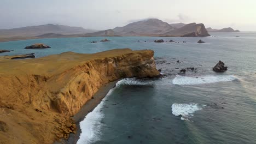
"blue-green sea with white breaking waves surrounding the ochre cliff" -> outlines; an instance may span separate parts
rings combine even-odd
[[[166,77],[119,81],[81,123],[78,143],[256,143],[256,33],[211,35],[216,37],[109,37],[110,42],[95,44],[90,41],[104,38],[20,40],[0,43],[0,49],[14,50],[1,55],[34,52],[36,57],[125,47],[155,51],[156,66]],[[197,44],[199,39],[206,44]],[[33,43],[52,48],[24,49]],[[219,60],[228,66],[225,73],[211,70]],[[177,76],[187,67],[196,70]]]

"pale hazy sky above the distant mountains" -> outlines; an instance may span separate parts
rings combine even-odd
[[[53,23],[103,30],[149,18],[256,31],[256,1],[0,0],[0,29]]]

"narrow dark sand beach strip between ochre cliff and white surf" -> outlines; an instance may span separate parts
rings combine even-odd
[[[77,143],[79,140],[80,134],[82,133],[82,130],[80,129],[80,122],[84,120],[86,115],[93,111],[95,107],[98,106],[98,104],[101,103],[102,99],[106,97],[110,89],[114,88],[116,86],[116,83],[119,80],[109,82],[106,85],[102,86],[98,91],[94,94],[93,98],[89,100],[86,104],[83,105],[83,107],[76,113],[72,118],[74,119],[75,124],[77,125],[77,134],[71,133],[68,137],[68,140],[63,140],[60,142],[54,142],[54,144],[74,144]]]

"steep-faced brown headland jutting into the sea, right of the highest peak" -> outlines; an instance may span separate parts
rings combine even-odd
[[[174,29],[173,31],[161,34],[161,36],[167,37],[207,37],[208,34],[205,25],[203,23],[189,23],[181,28]]]

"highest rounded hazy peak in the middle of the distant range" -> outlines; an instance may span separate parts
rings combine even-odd
[[[116,27],[113,29],[115,33],[120,35],[158,35],[175,29],[167,22],[158,19],[148,19],[129,23],[124,27]]]

